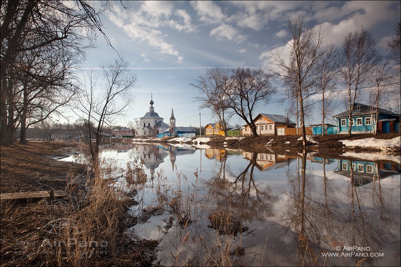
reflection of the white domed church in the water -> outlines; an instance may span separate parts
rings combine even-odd
[[[139,155],[141,163],[149,170],[151,178],[154,178],[154,171],[169,156],[171,168],[175,168],[177,155],[193,154],[196,148],[192,146],[171,146],[166,144],[134,144],[135,153]]]

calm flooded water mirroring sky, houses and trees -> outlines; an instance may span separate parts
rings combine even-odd
[[[127,233],[158,240],[162,265],[400,265],[399,156],[113,144],[102,158],[138,190]]]

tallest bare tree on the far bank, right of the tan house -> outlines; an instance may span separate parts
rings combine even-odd
[[[298,99],[302,143],[306,146],[304,100],[321,92],[316,88],[317,65],[327,52],[327,46],[323,45],[322,28],[313,24],[307,26],[301,16],[291,19],[288,29],[290,36],[286,37],[286,43],[291,56],[287,59],[278,51],[272,52],[270,56],[275,68],[271,71],[287,86],[288,95]]]

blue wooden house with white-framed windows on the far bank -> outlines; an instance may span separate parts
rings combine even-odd
[[[341,112],[333,116],[337,121],[337,133],[348,133],[351,125],[353,133],[371,133],[377,126],[378,133],[389,133],[399,131],[399,116],[397,113],[378,108],[376,119],[376,107],[373,107],[373,118],[370,114],[370,105],[355,103],[352,110],[351,123],[348,121],[349,111]]]

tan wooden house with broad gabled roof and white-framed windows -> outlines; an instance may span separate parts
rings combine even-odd
[[[284,115],[259,113],[255,118],[258,135],[285,135],[286,128],[295,128],[296,123]],[[250,125],[244,125],[241,135],[252,135]]]

